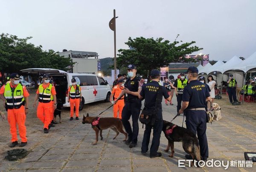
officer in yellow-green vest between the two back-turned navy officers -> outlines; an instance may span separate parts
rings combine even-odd
[[[174,83],[175,87],[175,94],[177,97],[177,114],[179,114],[179,110],[181,108],[181,101],[182,101],[182,95],[183,95],[183,89],[187,85],[188,80],[185,79],[185,73],[180,73],[180,79],[177,79]]]

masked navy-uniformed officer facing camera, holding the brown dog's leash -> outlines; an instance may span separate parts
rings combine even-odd
[[[125,82],[125,89],[120,93],[117,102],[123,95],[125,95],[125,106],[122,110],[122,124],[128,133],[128,139],[125,144],[130,148],[135,147],[138,141],[141,100],[139,94],[144,80],[136,76],[137,69],[134,65],[128,65],[128,79]],[[129,119],[132,118],[132,129]]]

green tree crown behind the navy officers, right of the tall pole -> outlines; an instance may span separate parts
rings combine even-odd
[[[177,35],[178,37],[179,35]],[[176,37],[176,39],[177,39]],[[194,59],[186,59],[186,54],[191,54],[203,48],[191,46],[195,43],[182,41],[171,42],[163,38],[128,38],[125,42],[130,49],[119,49],[118,58],[116,59],[118,68],[126,67],[128,64],[137,66],[137,73],[148,76],[154,68],[168,66],[171,62],[195,62]]]

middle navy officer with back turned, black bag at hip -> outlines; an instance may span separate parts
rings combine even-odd
[[[161,87],[159,90],[160,95],[163,95],[165,99],[168,101],[171,100],[171,97],[169,96],[167,90],[165,87],[159,85],[158,81],[160,81],[160,71],[159,70],[152,70],[150,73],[151,82],[143,85],[142,90],[140,92],[139,98],[143,99],[145,98],[144,103],[144,109],[147,111],[153,111],[155,110],[155,103],[157,99],[157,90]],[[159,144],[160,144],[160,136],[163,128],[163,115],[162,115],[162,99],[159,100],[157,104],[157,117],[156,122],[154,126],[151,126],[150,124],[146,124],[143,141],[141,145],[141,153],[145,154],[148,151],[148,144],[150,140],[151,135],[151,129],[153,127],[153,139],[152,144],[150,147],[150,158],[160,157],[162,154],[160,152],[157,152]]]

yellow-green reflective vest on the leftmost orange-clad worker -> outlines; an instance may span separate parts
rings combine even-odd
[[[18,84],[14,89],[11,88],[10,83],[6,84],[4,88],[4,97],[6,98],[7,109],[19,109],[21,105],[24,105],[23,86]]]

